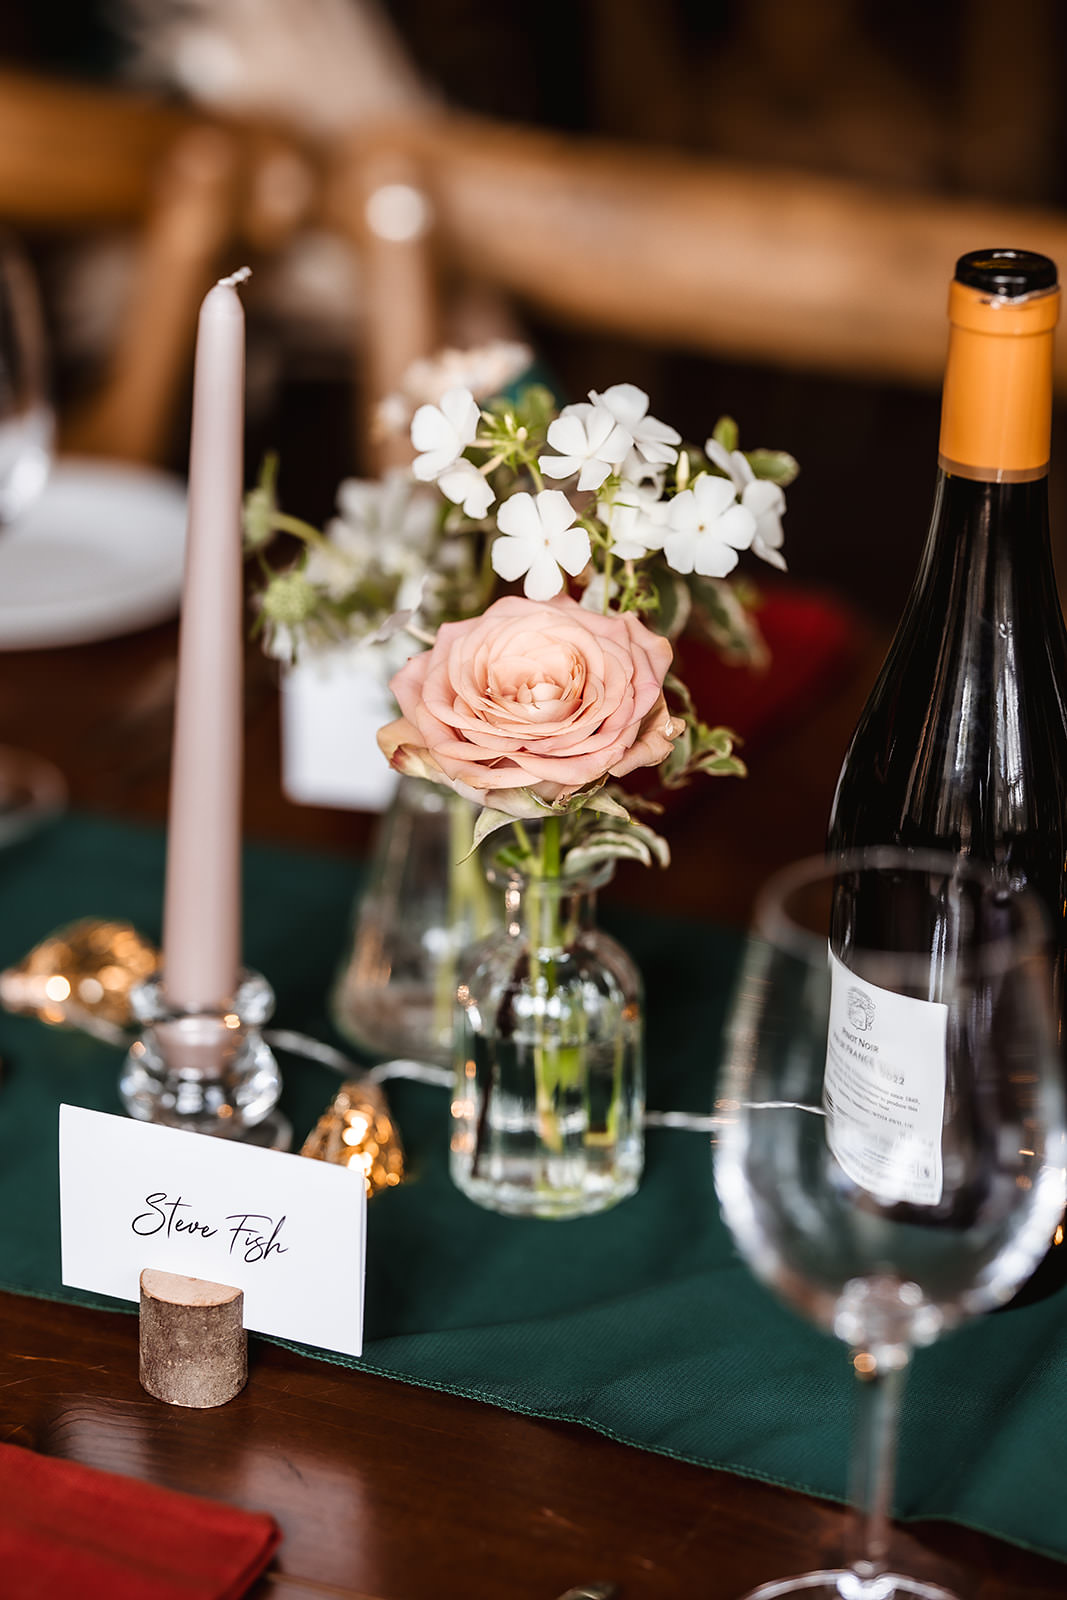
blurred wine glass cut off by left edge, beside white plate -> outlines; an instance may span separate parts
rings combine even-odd
[[[53,411],[45,330],[30,266],[0,229],[0,538],[48,482]],[[66,784],[51,762],[0,744],[0,846],[61,810]]]

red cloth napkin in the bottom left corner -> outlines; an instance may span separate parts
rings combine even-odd
[[[3,1600],[237,1600],[280,1538],[261,1512],[0,1445]]]

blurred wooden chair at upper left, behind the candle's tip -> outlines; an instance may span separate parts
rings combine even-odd
[[[133,286],[101,384],[61,446],[165,459],[200,301],[235,250],[277,248],[314,205],[290,138],[158,99],[0,72],[0,219],[14,229],[136,232]]]

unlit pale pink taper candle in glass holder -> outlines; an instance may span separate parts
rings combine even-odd
[[[240,968],[246,277],[210,290],[197,331],[163,910],[163,992],[182,1011],[232,1000]]]

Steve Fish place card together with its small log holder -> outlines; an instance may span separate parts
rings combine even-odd
[[[232,1400],[246,1331],[362,1352],[362,1170],[62,1106],[59,1218],[62,1282],[139,1304],[157,1400]]]

